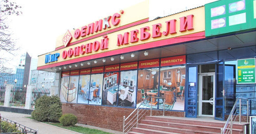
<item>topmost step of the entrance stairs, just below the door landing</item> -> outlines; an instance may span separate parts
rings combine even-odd
[[[193,120],[190,118],[166,118],[161,116],[147,116],[146,120],[153,120],[153,121],[162,121],[162,122],[173,122],[173,123],[185,123],[185,124],[197,124],[203,126],[214,126],[214,127],[224,127],[225,121],[203,121],[203,120]],[[243,129],[243,124],[233,124],[234,129]]]

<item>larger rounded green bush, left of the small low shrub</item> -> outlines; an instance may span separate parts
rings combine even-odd
[[[62,115],[61,105],[57,96],[41,96],[36,100],[31,116],[37,121],[57,122]]]

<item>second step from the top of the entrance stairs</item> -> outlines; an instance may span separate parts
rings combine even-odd
[[[196,131],[209,131],[219,133],[222,127],[215,126],[204,126],[195,124],[186,124],[186,123],[173,123],[173,122],[162,122],[162,121],[153,121],[153,120],[141,120],[141,124],[157,125],[163,127],[172,127],[179,129],[190,129]],[[233,129],[234,133],[240,133],[242,129]]]

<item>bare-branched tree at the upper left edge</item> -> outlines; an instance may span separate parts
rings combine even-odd
[[[10,15],[20,15],[20,6],[9,0],[0,0],[0,72],[9,73],[11,70],[5,66],[8,59],[3,56],[5,54],[14,55],[14,52],[19,48],[15,45],[15,40],[11,38],[11,32],[7,23],[7,18]]]

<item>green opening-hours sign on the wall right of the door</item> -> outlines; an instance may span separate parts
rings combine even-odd
[[[238,84],[255,83],[255,58],[238,60]]]

